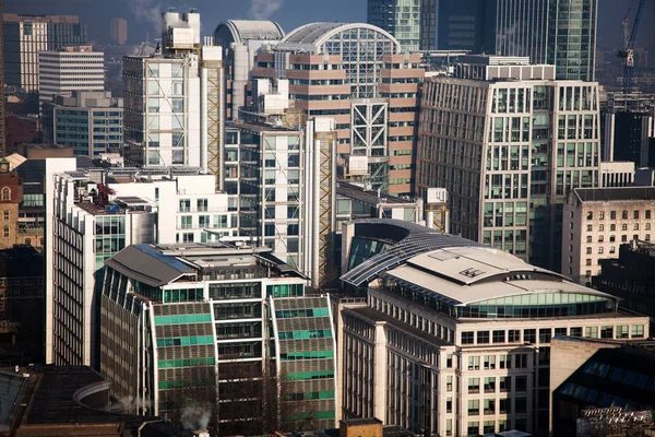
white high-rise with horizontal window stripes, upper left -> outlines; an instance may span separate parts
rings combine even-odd
[[[74,91],[105,90],[105,54],[92,46],[63,47],[38,54],[38,102],[52,102],[56,95]],[[41,113],[43,114],[43,113]]]

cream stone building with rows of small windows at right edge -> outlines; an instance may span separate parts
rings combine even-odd
[[[651,240],[654,213],[655,187],[574,189],[563,210],[562,273],[591,285],[621,244]]]

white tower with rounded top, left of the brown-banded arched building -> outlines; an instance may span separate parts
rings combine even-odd
[[[214,31],[214,44],[223,47],[225,70],[226,119],[237,120],[239,108],[252,105],[252,73],[267,63],[257,62],[255,55],[264,46],[275,46],[284,31],[273,21],[228,20]]]

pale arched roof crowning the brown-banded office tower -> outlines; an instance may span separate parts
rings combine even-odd
[[[303,48],[318,52],[320,46],[333,36],[350,29],[365,28],[377,32],[395,45],[395,52],[401,51],[401,44],[389,32],[367,23],[309,23],[289,32],[277,46],[281,50]]]

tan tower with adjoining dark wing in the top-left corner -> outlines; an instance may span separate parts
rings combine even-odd
[[[4,81],[38,92],[38,54],[86,44],[86,25],[76,15],[3,15]]]

